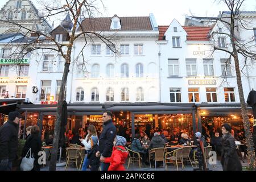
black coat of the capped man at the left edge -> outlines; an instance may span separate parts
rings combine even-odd
[[[0,160],[9,159],[13,161],[18,151],[19,125],[13,121],[6,122],[0,128]]]

